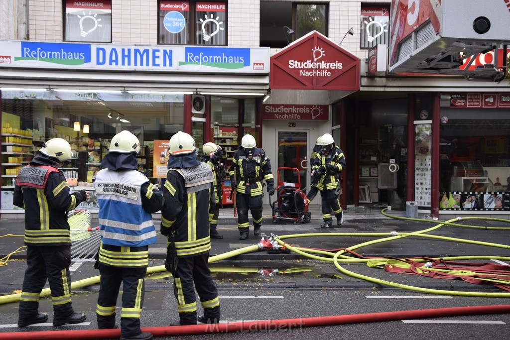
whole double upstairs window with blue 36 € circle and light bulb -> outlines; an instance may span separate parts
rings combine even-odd
[[[160,44],[225,46],[226,2],[160,1]]]

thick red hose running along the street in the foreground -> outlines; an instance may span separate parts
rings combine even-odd
[[[193,326],[143,327],[142,331],[154,336],[175,336],[227,332],[274,331],[301,327],[333,326],[354,323],[396,321],[424,318],[454,317],[464,315],[510,313],[510,305],[469,306],[436,309],[401,310],[380,313],[337,315],[330,317],[261,320]],[[59,330],[39,332],[0,333],[0,339],[106,339],[120,336],[120,329]]]

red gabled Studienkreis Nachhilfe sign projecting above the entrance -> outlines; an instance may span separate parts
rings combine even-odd
[[[270,59],[272,89],[360,89],[360,59],[313,31]]]

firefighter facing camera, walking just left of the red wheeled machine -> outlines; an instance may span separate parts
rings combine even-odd
[[[253,136],[243,136],[241,147],[234,153],[228,174],[232,190],[236,190],[239,240],[248,238],[248,209],[253,220],[253,234],[260,235],[262,198],[264,197],[262,180],[266,180],[267,192],[269,196],[272,196],[274,194],[274,178],[271,173],[271,163],[269,163],[264,150],[256,147]]]

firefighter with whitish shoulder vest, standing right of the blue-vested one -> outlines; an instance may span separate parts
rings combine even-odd
[[[195,325],[197,320],[219,323],[218,291],[207,266],[211,249],[209,221],[216,209],[213,171],[197,159],[190,135],[176,133],[168,147],[161,234],[168,238],[165,268],[173,275],[179,311],[179,321],[171,325]],[[203,307],[203,315],[198,318],[195,289]]]

